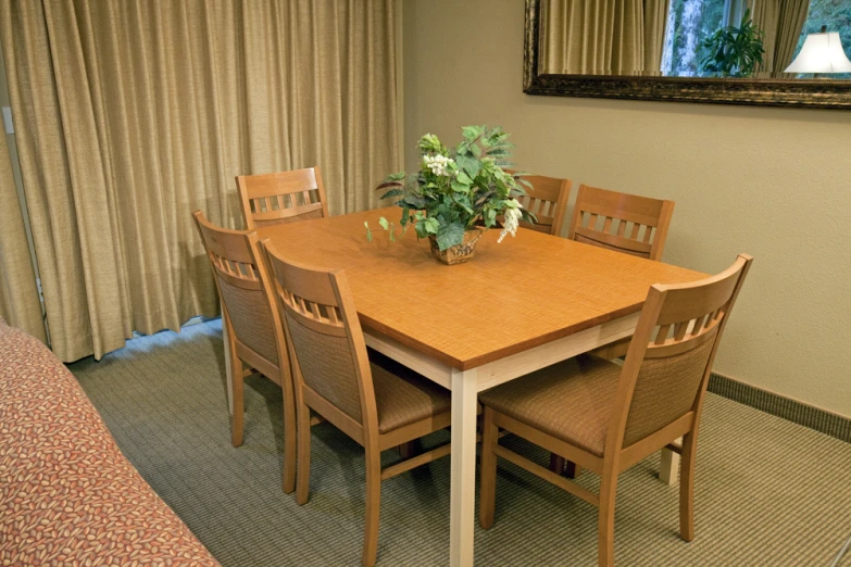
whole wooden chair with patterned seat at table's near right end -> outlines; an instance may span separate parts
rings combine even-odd
[[[668,448],[683,456],[679,533],[694,538],[694,455],[715,352],[752,259],[691,284],[652,286],[623,367],[580,356],[479,394],[484,405],[479,524],[493,525],[497,457],[599,507],[598,562],[614,564],[617,476]],[[499,444],[515,433],[600,475],[593,492]],[[681,445],[675,440],[683,438]]]

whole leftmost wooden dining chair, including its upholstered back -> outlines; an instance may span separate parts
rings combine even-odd
[[[296,490],[296,400],[284,328],[265,264],[260,262],[256,234],[217,227],[204,218],[201,211],[196,211],[192,216],[222,299],[234,402],[230,442],[234,446],[242,444],[243,380],[254,369],[280,386],[284,393],[283,488],[284,492],[290,493]]]

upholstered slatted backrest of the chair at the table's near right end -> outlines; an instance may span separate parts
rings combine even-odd
[[[650,288],[618,385],[613,420],[623,419],[621,446],[690,411],[699,415],[715,351],[752,261],[740,254],[716,276]]]

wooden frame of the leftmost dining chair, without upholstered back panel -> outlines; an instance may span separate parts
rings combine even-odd
[[[280,317],[273,301],[271,279],[266,265],[262,262],[256,234],[248,230],[221,228],[204,218],[201,211],[192,213],[196,227],[201,235],[208,259],[213,269],[213,279],[220,298],[224,298],[218,278],[238,288],[262,290],[272,315],[272,331],[275,336],[278,364],[270,361],[234,332],[227,303],[222,300],[222,323],[225,348],[230,354],[230,393],[234,402],[231,416],[231,439],[234,446],[242,444],[245,423],[245,378],[253,370],[281,387],[284,394],[284,471],[283,490],[286,493],[296,490],[296,398],[292,391],[289,355],[284,337]],[[245,365],[248,368],[243,367]],[[252,370],[253,369],[253,370]]]

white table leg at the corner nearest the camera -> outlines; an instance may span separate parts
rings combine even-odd
[[[449,564],[473,565],[476,506],[476,370],[452,370],[452,488]]]

